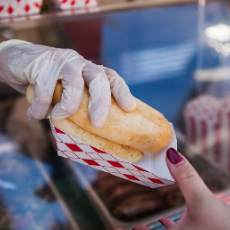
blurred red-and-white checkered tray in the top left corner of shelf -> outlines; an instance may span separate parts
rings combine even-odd
[[[43,0],[0,0],[0,19],[40,13]]]

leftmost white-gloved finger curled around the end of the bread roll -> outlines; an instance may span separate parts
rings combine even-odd
[[[27,111],[27,117],[29,120],[41,120],[46,117],[52,102],[51,92],[52,91],[45,89],[43,85],[35,83],[34,101]]]

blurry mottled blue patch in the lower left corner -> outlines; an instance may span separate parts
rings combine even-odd
[[[5,145],[5,143],[0,143]],[[43,164],[50,175],[52,169]],[[0,154],[0,207],[10,216],[10,226],[17,230],[54,228],[55,223],[66,223],[66,216],[58,201],[47,202],[37,196],[46,181],[38,170],[36,161],[20,155],[19,152],[6,151]],[[2,217],[6,218],[6,217]],[[11,228],[10,228],[11,229]]]

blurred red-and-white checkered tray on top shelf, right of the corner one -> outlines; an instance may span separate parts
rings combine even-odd
[[[51,5],[56,9],[74,10],[98,5],[98,0],[50,0]]]

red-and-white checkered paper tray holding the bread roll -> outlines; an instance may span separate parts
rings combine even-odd
[[[167,149],[177,148],[176,135],[172,125],[171,127],[172,138],[164,149],[154,154],[144,154],[140,161],[131,164],[79,141],[51,124],[59,156],[150,188],[174,184],[165,162]]]

